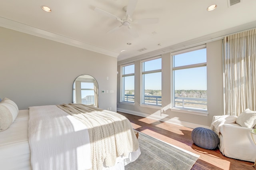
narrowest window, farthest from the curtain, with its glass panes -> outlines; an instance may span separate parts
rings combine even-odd
[[[122,65],[121,101],[134,103],[134,64]]]

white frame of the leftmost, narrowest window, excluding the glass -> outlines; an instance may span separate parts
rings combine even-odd
[[[123,67],[129,66],[129,65],[134,65],[134,73],[129,73],[129,74],[123,74]],[[123,77],[129,77],[129,76],[134,76],[134,92],[135,92],[135,63],[127,63],[124,65],[121,65],[121,85],[120,85],[120,103],[124,103],[124,104],[129,104],[129,105],[134,105],[135,103],[135,94],[134,94],[134,101],[125,101],[125,87],[124,87],[124,83],[123,83]],[[124,99],[124,100],[123,100]]]

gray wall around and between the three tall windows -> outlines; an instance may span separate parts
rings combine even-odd
[[[170,122],[183,122],[189,124],[203,125],[209,127],[214,115],[224,114],[223,104],[223,69],[222,69],[222,40],[206,43],[207,50],[207,91],[208,91],[208,115],[194,115],[190,113],[182,113],[177,111],[171,111],[171,53],[165,53],[162,55],[162,108],[166,110],[162,120],[168,120]],[[134,58],[130,59],[130,62]],[[118,71],[120,72],[121,65],[123,63],[129,63],[129,59],[118,62]],[[121,74],[118,74],[118,110],[131,113],[134,115],[150,115],[161,118],[161,108],[155,109],[150,107],[140,106],[140,59],[135,57],[135,103],[134,105],[127,105],[120,102],[120,81]],[[182,123],[180,123],[182,124]]]

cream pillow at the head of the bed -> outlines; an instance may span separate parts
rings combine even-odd
[[[6,130],[16,119],[19,109],[16,103],[8,98],[0,102],[0,132]]]

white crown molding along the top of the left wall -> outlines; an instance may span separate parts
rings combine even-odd
[[[74,40],[72,38],[54,34],[52,32],[41,30],[39,28],[28,26],[26,24],[22,24],[20,22],[12,21],[12,20],[2,18],[2,17],[0,17],[0,27],[8,28],[8,29],[15,30],[18,32],[23,32],[23,33],[41,37],[41,38],[46,38],[48,40],[64,43],[67,45],[72,45],[74,47],[94,51],[96,53],[101,53],[101,54],[109,55],[109,56],[116,57],[116,58],[120,54],[120,53],[116,53],[114,51],[109,51],[109,50],[101,48],[101,47],[97,47],[95,45],[91,45],[91,44],[84,43],[84,42],[81,42],[78,40]]]

